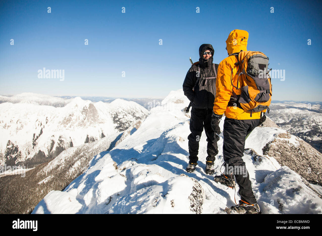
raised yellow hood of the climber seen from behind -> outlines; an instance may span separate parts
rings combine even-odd
[[[245,37],[245,38],[244,38]],[[248,32],[244,30],[233,30],[226,40],[228,55],[247,51]]]

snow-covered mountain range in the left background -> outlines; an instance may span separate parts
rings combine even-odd
[[[42,163],[67,148],[124,131],[148,114],[139,104],[121,99],[109,104],[29,93],[9,98],[20,102],[0,104],[0,165],[31,159],[29,164]],[[54,102],[63,105],[55,107]]]

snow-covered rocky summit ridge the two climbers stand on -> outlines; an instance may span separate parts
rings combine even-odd
[[[95,163],[64,191],[48,193],[33,213],[225,214],[225,207],[235,205],[234,191],[205,174],[204,132],[196,171],[185,171],[190,113],[184,109],[188,104],[182,90],[172,91],[132,135],[108,153],[97,155]],[[220,126],[223,130],[223,120]],[[265,214],[322,213],[322,196],[303,177],[263,155],[265,145],[285,133],[277,127],[257,127],[246,141],[243,160],[260,208]],[[223,163],[222,137],[214,175],[220,174]],[[292,136],[290,142],[297,144]]]

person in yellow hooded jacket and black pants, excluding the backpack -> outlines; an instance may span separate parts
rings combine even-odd
[[[223,159],[225,171],[222,175],[215,176],[214,180],[234,187],[236,179],[239,185],[241,200],[232,207],[241,214],[256,214],[260,212],[256,198],[251,188],[248,171],[242,160],[246,136],[258,125],[264,122],[265,117],[260,118],[261,112],[248,112],[231,104],[233,92],[238,96],[240,90],[235,89],[238,84],[238,57],[232,55],[241,51],[247,51],[248,32],[233,30],[226,40],[228,57],[219,64],[216,80],[216,97],[213,106],[212,126],[220,122],[223,114],[226,118],[223,126]],[[235,87],[234,87],[234,86]]]

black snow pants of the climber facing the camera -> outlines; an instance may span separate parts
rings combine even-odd
[[[188,136],[188,148],[189,148],[189,163],[197,163],[198,161],[198,150],[199,150],[199,141],[201,133],[203,130],[207,136],[207,154],[206,161],[210,165],[213,164],[218,154],[217,141],[219,140],[220,134],[219,126],[216,127],[216,132],[213,131],[211,127],[211,116],[213,114],[212,109],[191,109],[191,118],[190,118],[190,131],[191,134]],[[212,164],[211,164],[212,162]]]

